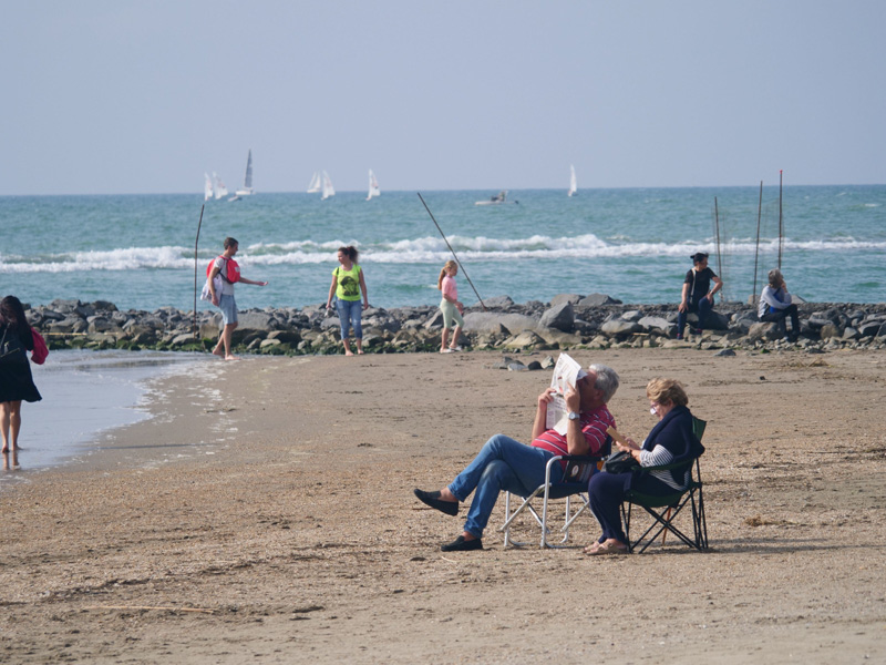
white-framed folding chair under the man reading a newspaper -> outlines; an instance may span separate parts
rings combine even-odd
[[[535,491],[528,497],[523,498],[523,502],[517,509],[511,512],[511,492],[505,492],[505,522],[498,528],[498,531],[505,534],[505,548],[514,545],[522,548],[528,545],[528,542],[519,542],[511,538],[511,526],[514,520],[524,512],[530,514],[538,526],[542,528],[540,548],[565,548],[565,543],[569,540],[569,526],[590,504],[588,500],[588,480],[593,473],[602,467],[602,461],[609,456],[612,449],[612,439],[606,438],[606,442],[597,454],[560,454],[550,458],[545,467],[545,482],[538,485]],[[558,483],[550,482],[550,471],[554,464],[560,461],[566,461],[566,471],[564,473],[564,481]],[[571,503],[573,498],[580,502],[578,509],[573,512]],[[533,501],[539,500],[542,502],[542,514],[538,514]],[[548,526],[548,515],[553,511],[552,501],[558,499],[566,499],[566,512],[563,518],[563,539],[559,543],[552,543],[548,541],[550,535],[550,528]]]

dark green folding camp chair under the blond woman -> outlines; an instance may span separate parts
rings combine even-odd
[[[707,421],[692,417],[692,430],[699,440],[704,434],[707,424]],[[635,548],[642,545],[639,553],[645,552],[659,534],[661,534],[661,543],[664,544],[664,538],[668,532],[676,535],[683,544],[699,552],[708,549],[708,522],[704,519],[704,493],[699,458],[678,464],[642,467],[637,472],[649,473],[651,471],[671,470],[689,470],[690,481],[686,489],[674,490],[666,495],[645,494],[636,490],[627,492],[625,503],[621,504],[621,519],[625,522],[625,534],[628,538],[628,551],[633,552]],[[625,508],[626,504],[627,509]],[[636,540],[630,534],[631,507],[633,505],[639,505],[653,519],[652,524]],[[690,509],[688,512],[691,513],[692,538],[681,531],[674,523],[678,515],[687,507]]]

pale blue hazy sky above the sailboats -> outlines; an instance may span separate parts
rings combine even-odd
[[[0,195],[886,183],[886,2],[3,0]]]

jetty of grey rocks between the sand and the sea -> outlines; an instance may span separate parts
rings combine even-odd
[[[466,350],[503,352],[628,347],[700,349],[886,347],[886,304],[800,303],[801,337],[780,339],[774,324],[756,320],[755,307],[718,304],[702,334],[677,340],[677,305],[625,305],[609,296],[563,294],[550,303],[515,304],[507,296],[465,310],[461,344]],[[689,316],[690,326],[694,315]],[[51,349],[210,350],[222,321],[215,309],[122,311],[113,303],[53,300],[28,307],[28,318]],[[371,308],[363,313],[368,352],[436,351],[443,317],[435,306]],[[688,330],[690,332],[690,330]],[[238,352],[328,355],[341,352],[339,320],[322,304],[239,313]]]

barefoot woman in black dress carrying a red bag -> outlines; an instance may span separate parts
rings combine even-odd
[[[0,434],[2,452],[19,449],[21,402],[42,398],[31,376],[31,362],[25,351],[34,350],[31,326],[24,308],[16,296],[0,300]]]

